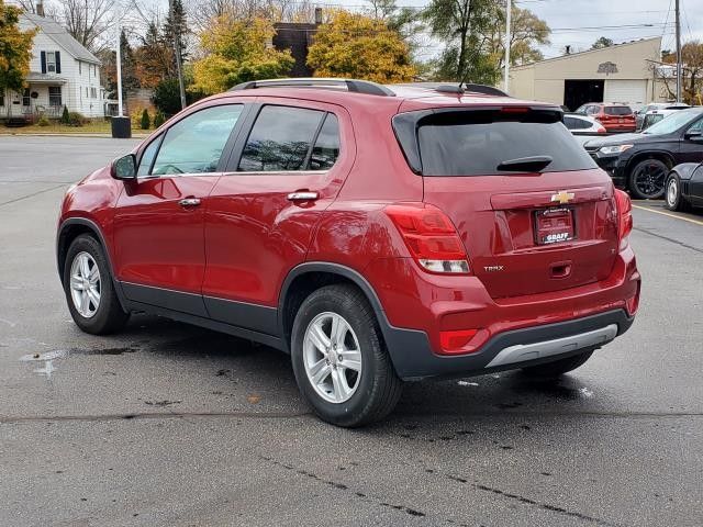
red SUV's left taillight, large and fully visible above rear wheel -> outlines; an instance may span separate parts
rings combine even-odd
[[[464,244],[454,224],[439,209],[426,203],[389,205],[386,214],[423,269],[443,274],[469,272]]]

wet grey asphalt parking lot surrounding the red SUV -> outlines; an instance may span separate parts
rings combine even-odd
[[[638,318],[558,384],[409,384],[346,430],[277,351],[146,315],[72,324],[60,198],[134,144],[0,137],[0,525],[703,525],[703,214],[635,203]]]

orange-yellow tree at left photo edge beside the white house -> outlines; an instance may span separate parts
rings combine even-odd
[[[20,10],[0,0],[0,93],[20,92],[30,72],[35,31],[20,31]]]

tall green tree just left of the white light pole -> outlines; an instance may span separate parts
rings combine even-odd
[[[432,36],[444,43],[439,80],[493,85],[499,69],[483,46],[493,23],[494,0],[432,0],[423,12]]]

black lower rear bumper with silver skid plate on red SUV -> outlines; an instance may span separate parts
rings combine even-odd
[[[633,322],[625,310],[614,310],[514,329],[495,335],[478,352],[457,357],[434,354],[424,332],[387,328],[383,333],[398,375],[420,380],[481,375],[551,362],[607,344],[629,329]]]

